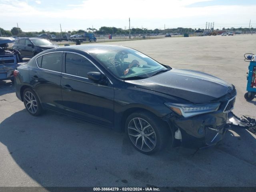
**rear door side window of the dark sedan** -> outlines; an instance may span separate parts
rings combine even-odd
[[[40,58],[38,58],[37,62],[40,62]],[[61,68],[62,68],[61,65],[62,65],[62,52],[49,53],[42,56],[41,68],[43,69],[61,72]]]

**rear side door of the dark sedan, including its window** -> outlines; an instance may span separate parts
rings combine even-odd
[[[30,84],[44,108],[62,112],[60,88],[63,52],[50,52],[36,58],[37,68],[30,70]]]

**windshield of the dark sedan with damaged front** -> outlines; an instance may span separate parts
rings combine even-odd
[[[114,76],[121,79],[147,78],[160,70],[167,69],[152,58],[131,48],[95,49],[90,53]]]

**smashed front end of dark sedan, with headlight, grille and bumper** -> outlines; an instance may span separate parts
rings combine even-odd
[[[165,117],[166,122],[174,130],[173,146],[197,149],[215,146],[232,125],[230,118],[240,121],[231,112],[235,99],[236,89],[232,86],[226,95],[214,100],[212,104],[169,106],[176,112]],[[181,115],[178,116],[177,113]]]

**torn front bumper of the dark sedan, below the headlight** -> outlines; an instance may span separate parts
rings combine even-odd
[[[202,114],[191,118],[172,116],[166,120],[174,130],[173,146],[205,149],[220,142],[230,128],[229,113],[223,110]]]

